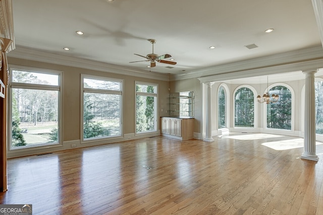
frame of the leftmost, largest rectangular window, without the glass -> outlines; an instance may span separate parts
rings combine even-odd
[[[51,70],[44,68],[36,68],[36,67],[28,67],[28,66],[20,66],[20,65],[8,65],[10,71],[10,83],[9,83],[9,91],[8,91],[8,154],[15,152],[30,152],[35,149],[48,149],[54,147],[62,147],[63,146],[63,71],[59,70]],[[58,85],[43,85],[43,84],[30,84],[30,83],[19,83],[13,82],[13,70],[21,70],[30,73],[39,73],[39,74],[49,74],[49,75],[58,75]],[[49,142],[37,144],[36,146],[23,146],[23,147],[12,147],[12,91],[13,89],[27,89],[27,90],[46,90],[46,91],[57,91],[58,92],[58,142]],[[9,138],[10,136],[10,138]],[[32,153],[32,152],[31,152]]]

